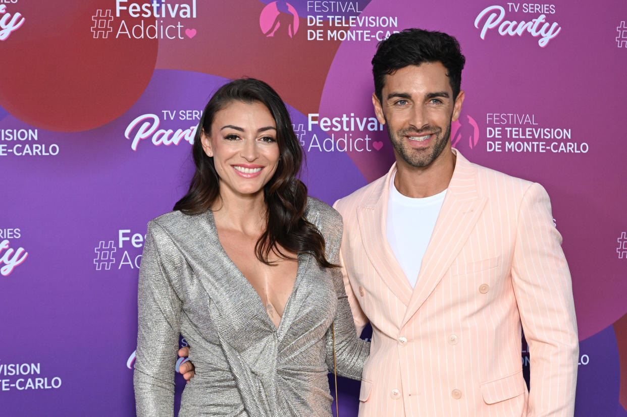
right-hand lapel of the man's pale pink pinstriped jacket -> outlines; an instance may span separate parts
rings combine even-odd
[[[459,151],[453,152],[457,155],[453,177],[424,254],[403,326],[416,314],[450,268],[487,202],[487,198],[481,197],[477,190],[477,168]]]

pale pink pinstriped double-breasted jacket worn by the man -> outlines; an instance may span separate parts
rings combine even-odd
[[[357,331],[372,324],[359,416],[572,416],[579,343],[549,196],[453,152],[414,289],[386,239],[396,167],[334,205],[344,217],[340,262]]]

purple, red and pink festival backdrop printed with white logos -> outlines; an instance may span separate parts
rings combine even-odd
[[[186,192],[220,85],[278,91],[302,178],[333,203],[393,162],[370,60],[419,27],[466,56],[453,145],[551,195],[581,340],[576,416],[627,416],[626,21],[624,0],[1,0],[0,414],[134,415],[146,223]],[[358,389],[340,379],[343,416]]]

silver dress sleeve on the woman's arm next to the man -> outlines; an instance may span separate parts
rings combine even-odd
[[[332,264],[339,263],[340,241],[342,239],[342,222],[334,228],[332,236],[326,236],[327,258]],[[327,367],[333,372],[333,339],[335,336],[335,368],[337,374],[346,378],[361,380],[364,363],[370,354],[370,342],[360,339],[355,329],[352,312],[342,279],[342,268],[331,270],[335,294],[337,294],[337,311],[334,327],[327,330]],[[332,331],[334,334],[332,334]]]

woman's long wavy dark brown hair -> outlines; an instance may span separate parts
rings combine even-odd
[[[303,153],[292,129],[290,115],[277,92],[263,81],[254,78],[234,80],[221,86],[211,97],[194,136],[192,156],[196,172],[187,194],[174,205],[174,210],[181,210],[189,215],[201,214],[209,210],[219,198],[220,178],[213,165],[213,158],[204,153],[201,135],[203,131],[211,131],[216,113],[233,101],[262,103],[270,110],[277,123],[277,143],[281,158],[277,171],[263,187],[263,197],[268,206],[267,227],[255,245],[256,257],[268,265],[271,264],[268,261],[270,252],[289,259],[279,249],[280,245],[295,254],[314,255],[322,267],[334,267],[325,257],[324,237],[304,216],[307,187],[297,178]]]

